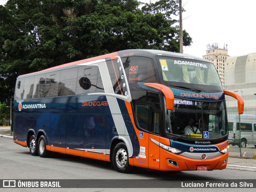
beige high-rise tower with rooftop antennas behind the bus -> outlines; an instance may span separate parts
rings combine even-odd
[[[218,71],[218,74],[220,76],[220,80],[222,83],[222,87],[224,89],[224,69],[225,69],[225,63],[226,59],[229,57],[228,55],[228,49],[227,45],[223,47],[223,49],[220,49],[218,44],[210,44],[207,45],[206,55],[203,55],[204,59],[207,59],[211,63],[214,64],[215,68]]]

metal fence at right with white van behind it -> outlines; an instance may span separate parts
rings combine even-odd
[[[229,151],[256,155],[256,109],[244,109],[244,114],[238,115],[237,107],[228,107],[227,116]]]

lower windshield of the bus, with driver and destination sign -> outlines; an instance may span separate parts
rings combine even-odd
[[[175,98],[174,103],[173,111],[166,110],[167,133],[191,139],[217,139],[227,135],[225,101],[200,102]],[[203,137],[204,131],[208,131],[208,138]],[[186,136],[189,134],[192,136]]]

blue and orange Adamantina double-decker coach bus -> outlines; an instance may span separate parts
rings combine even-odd
[[[212,63],[160,50],[124,50],[20,75],[14,142],[161,171],[224,169],[225,95]],[[193,119],[193,120],[191,120]],[[185,129],[190,122],[188,133]],[[191,129],[191,130],[192,130]]]

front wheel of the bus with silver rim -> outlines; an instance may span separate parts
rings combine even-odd
[[[112,164],[121,173],[128,173],[132,170],[129,164],[128,151],[124,143],[118,143],[112,153]]]

